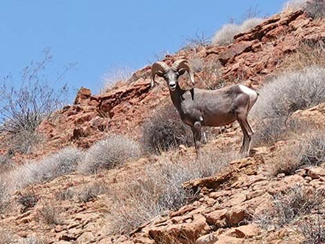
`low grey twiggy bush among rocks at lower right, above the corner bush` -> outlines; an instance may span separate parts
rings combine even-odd
[[[254,216],[254,221],[266,229],[281,228],[319,209],[323,203],[324,191],[295,185],[273,196],[274,207],[263,215]]]

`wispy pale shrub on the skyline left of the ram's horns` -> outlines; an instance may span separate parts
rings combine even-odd
[[[107,91],[111,90],[116,84],[127,82],[133,73],[133,69],[127,66],[112,68],[111,71],[102,75],[103,87],[100,89],[100,93],[106,93]]]

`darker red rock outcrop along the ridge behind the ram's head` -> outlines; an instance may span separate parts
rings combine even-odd
[[[300,41],[316,42],[325,38],[324,21],[311,21],[301,10],[270,17],[256,28],[235,37],[230,46],[185,48],[164,61],[198,57],[203,69],[195,75],[198,87],[243,83],[253,88],[269,75],[277,72],[286,55],[299,47]],[[218,69],[218,74],[214,70]],[[41,124],[40,131],[48,137],[46,149],[67,144],[89,147],[108,132],[122,132],[138,136],[142,122],[153,109],[165,102],[169,92],[165,82],[150,88],[150,66],[137,71],[129,84],[121,84],[111,91],[92,95],[82,88],[75,104],[57,112],[52,120]],[[43,152],[41,152],[43,153]]]

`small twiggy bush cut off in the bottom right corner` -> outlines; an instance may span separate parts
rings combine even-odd
[[[304,241],[301,244],[324,244],[325,243],[325,214],[317,214],[316,218],[304,221],[300,225]]]

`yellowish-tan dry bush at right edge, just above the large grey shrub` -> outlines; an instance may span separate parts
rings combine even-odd
[[[317,41],[301,41],[299,48],[290,55],[287,55],[280,63],[280,71],[301,71],[310,66],[325,67],[325,43]]]

